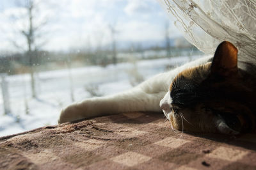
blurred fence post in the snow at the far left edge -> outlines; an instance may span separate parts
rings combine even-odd
[[[4,114],[11,113],[10,108],[10,98],[9,98],[9,91],[8,91],[8,82],[6,81],[7,73],[1,73],[1,89],[2,89],[2,96],[3,96],[3,104],[4,104]]]

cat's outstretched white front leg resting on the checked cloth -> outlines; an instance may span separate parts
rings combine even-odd
[[[61,111],[59,123],[83,118],[119,114],[122,112],[152,111],[160,112],[159,101],[164,92],[145,93],[140,88],[118,93],[109,97],[89,98],[81,103],[69,105]]]

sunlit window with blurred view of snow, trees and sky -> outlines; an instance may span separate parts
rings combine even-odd
[[[202,55],[154,0],[2,0],[0,136]]]

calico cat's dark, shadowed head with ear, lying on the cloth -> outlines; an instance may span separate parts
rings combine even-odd
[[[240,134],[255,126],[253,87],[237,67],[236,47],[222,42],[211,63],[175,77],[160,105],[177,130]]]

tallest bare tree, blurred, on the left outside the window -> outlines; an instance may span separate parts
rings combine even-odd
[[[40,31],[42,31],[42,27],[47,24],[47,19],[41,19],[40,22],[36,20],[36,17],[38,16],[36,16],[35,13],[40,3],[41,1],[34,0],[16,1],[18,7],[24,8],[26,10],[26,15],[24,15],[23,17],[18,16],[16,20],[22,20],[22,22],[28,23],[28,26],[19,28],[18,33],[26,40],[26,49],[24,50],[26,56],[28,57],[29,73],[31,77],[31,93],[33,98],[37,97],[34,67],[37,64],[36,58],[38,57],[38,50],[42,48],[42,46],[45,44],[45,42],[41,42],[39,44],[36,42],[39,42],[39,39],[42,40],[42,35],[40,34]],[[12,42],[15,47],[20,48],[20,45],[16,43],[15,40],[12,40]]]

